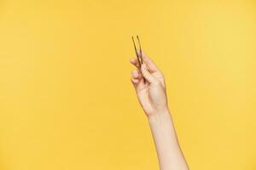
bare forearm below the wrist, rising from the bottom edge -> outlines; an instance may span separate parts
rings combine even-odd
[[[177,142],[170,111],[148,116],[148,122],[154,138],[160,170],[188,170],[189,167]]]

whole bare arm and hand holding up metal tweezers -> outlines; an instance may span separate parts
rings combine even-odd
[[[141,68],[136,58],[131,58],[130,62],[137,67],[131,71],[131,82],[148,118],[160,170],[188,170],[168,107],[163,73],[146,54],[143,54],[144,63]]]

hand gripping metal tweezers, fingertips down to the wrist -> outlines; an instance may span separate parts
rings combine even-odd
[[[137,67],[131,71],[131,82],[137,93],[137,99],[147,116],[154,116],[168,111],[166,98],[166,82],[164,75],[146,54],[143,54],[143,65],[139,68],[137,58],[131,58],[132,65]],[[143,78],[146,80],[144,82]]]

